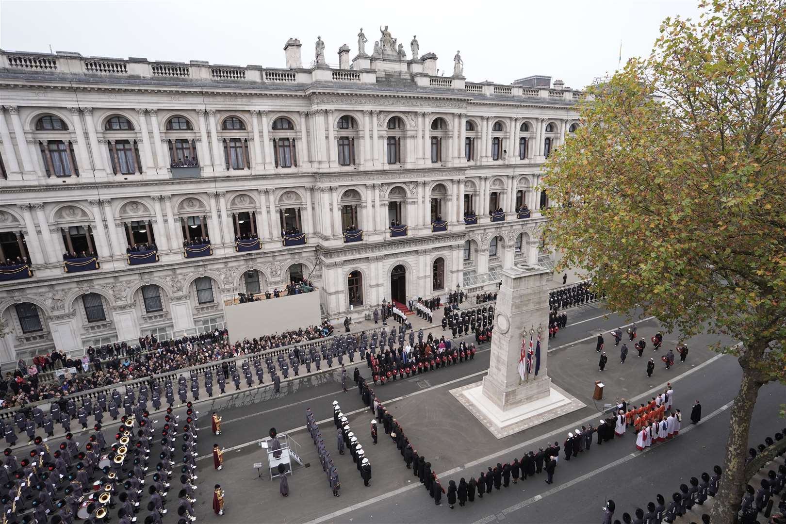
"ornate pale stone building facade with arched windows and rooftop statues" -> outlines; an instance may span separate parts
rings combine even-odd
[[[336,319],[538,262],[542,164],[583,93],[437,76],[433,53],[384,46],[351,63],[342,46],[338,68],[303,66],[296,39],[285,54],[0,52],[0,362],[221,325],[238,292],[292,279]]]

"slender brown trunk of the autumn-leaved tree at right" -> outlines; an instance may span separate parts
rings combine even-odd
[[[723,476],[710,512],[713,524],[734,524],[745,492],[748,431],[751,429],[751,416],[758,390],[762,387],[762,383],[756,381],[752,375],[747,367],[743,367],[740,392],[734,398],[731,409]]]

